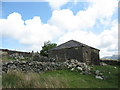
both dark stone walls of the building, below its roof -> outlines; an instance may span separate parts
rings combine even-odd
[[[87,65],[100,65],[99,50],[88,46],[50,50],[49,58],[55,58],[59,61],[77,59],[80,62],[85,62]]]

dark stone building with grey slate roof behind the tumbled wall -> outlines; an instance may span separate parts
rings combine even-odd
[[[100,65],[99,49],[90,47],[75,40],[65,42],[48,52],[49,58],[59,61],[66,59],[76,59],[87,65]]]

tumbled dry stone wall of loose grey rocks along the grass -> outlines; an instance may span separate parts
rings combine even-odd
[[[42,73],[46,71],[69,69],[71,71],[79,72],[80,74],[93,74],[98,79],[105,79],[104,75],[98,70],[93,71],[91,67],[85,63],[78,62],[71,59],[65,62],[38,62],[38,61],[9,61],[3,63],[2,73],[7,73],[10,70],[19,70],[22,72]]]

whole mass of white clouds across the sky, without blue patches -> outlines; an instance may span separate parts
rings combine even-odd
[[[0,33],[3,37],[12,37],[21,44],[29,45],[29,50],[40,50],[44,41],[48,40],[61,44],[74,39],[100,49],[101,56],[112,55],[118,49],[118,24],[116,19],[112,20],[117,11],[117,1],[89,0],[89,7],[76,15],[70,9],[60,9],[68,1],[61,0],[56,4],[56,1],[49,0],[53,11],[46,24],[39,16],[24,21],[19,13],[12,13],[7,19],[0,19]],[[96,34],[92,31],[95,25],[109,28]]]

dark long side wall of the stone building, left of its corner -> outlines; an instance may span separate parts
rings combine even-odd
[[[59,50],[49,51],[49,58],[55,58],[59,61],[65,61],[66,59],[77,59],[83,62],[83,53],[81,47],[76,48],[64,48]]]

